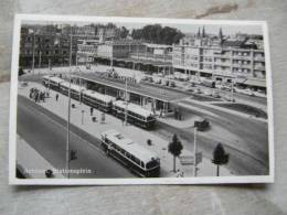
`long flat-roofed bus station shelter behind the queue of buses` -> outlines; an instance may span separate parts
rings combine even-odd
[[[140,105],[159,116],[169,116],[177,108],[177,101],[189,95],[152,84],[136,83],[132,78],[108,77],[100,73],[73,73],[72,82],[87,89]],[[126,98],[127,93],[127,98]]]

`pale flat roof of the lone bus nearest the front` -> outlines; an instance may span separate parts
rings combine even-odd
[[[135,155],[139,160],[144,161],[145,163],[159,158],[157,153],[149,151],[145,147],[134,142],[131,139],[124,137],[116,130],[104,131],[102,137],[106,137],[108,140],[130,154]]]

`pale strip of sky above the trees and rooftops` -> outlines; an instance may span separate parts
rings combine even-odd
[[[74,25],[85,25],[85,24],[91,24],[92,22],[47,22],[47,21],[25,21],[23,23],[28,23],[28,24],[71,24]],[[102,23],[102,24],[106,24],[107,22],[94,22],[95,24],[97,23]],[[140,29],[147,24],[153,24],[153,23],[139,23],[139,22],[129,22],[129,23],[117,23],[117,22],[113,22],[114,24],[116,24],[117,26],[126,26],[128,30],[132,30],[132,29]],[[156,24],[156,23],[155,23]],[[181,32],[183,33],[196,33],[199,28],[202,29],[203,24],[161,24],[162,26],[171,26],[171,28],[176,28],[179,29]],[[204,24],[204,29],[205,29],[205,33],[211,33],[211,34],[217,34],[219,33],[219,29],[222,28],[223,34],[224,35],[232,35],[235,33],[247,33],[247,34],[263,34],[263,30],[261,25],[234,25],[234,24]]]

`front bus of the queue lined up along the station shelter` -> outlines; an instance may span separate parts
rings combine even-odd
[[[124,100],[115,100],[113,103],[113,114],[121,119],[125,119],[125,116],[127,114],[127,120],[130,123],[134,123],[141,128],[152,128],[156,122],[156,117],[153,112],[144,109],[139,105],[135,105]]]

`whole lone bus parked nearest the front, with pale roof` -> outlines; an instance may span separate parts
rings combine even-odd
[[[100,133],[102,147],[131,172],[142,178],[158,178],[160,175],[160,159],[155,153],[124,137],[116,130]]]

